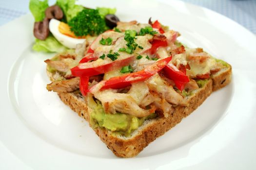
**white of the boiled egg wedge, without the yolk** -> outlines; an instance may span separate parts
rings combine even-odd
[[[75,49],[77,44],[83,43],[85,39],[72,38],[70,36],[61,34],[59,32],[60,21],[57,19],[51,19],[49,23],[50,32],[53,36],[65,47],[69,49]]]

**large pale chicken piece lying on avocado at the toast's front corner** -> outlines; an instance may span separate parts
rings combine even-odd
[[[145,110],[140,108],[131,95],[116,93],[115,90],[99,91],[94,96],[101,101],[106,113],[115,114],[118,111],[141,118],[155,111],[154,109]]]

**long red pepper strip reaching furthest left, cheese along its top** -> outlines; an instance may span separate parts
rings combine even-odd
[[[86,77],[86,76],[90,77],[90,76],[111,71],[115,68],[127,66],[133,61],[133,59],[134,59],[134,56],[130,56],[128,58],[115,60],[113,62],[100,65],[100,66],[95,66],[97,65],[97,63],[95,63],[97,61],[93,61],[90,63],[80,63],[78,66],[71,68],[71,73],[76,77]]]

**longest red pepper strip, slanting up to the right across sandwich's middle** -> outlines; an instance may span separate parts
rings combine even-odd
[[[118,77],[112,77],[105,82],[105,84],[101,87],[101,90],[107,88],[124,88],[128,85],[131,85],[131,83],[144,81],[163,69],[171,60],[172,56],[161,59],[155,64],[148,66],[147,68],[144,68],[138,72],[125,74]]]

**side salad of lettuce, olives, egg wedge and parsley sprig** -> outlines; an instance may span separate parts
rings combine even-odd
[[[76,0],[30,0],[29,9],[35,18],[34,51],[63,52],[74,49],[85,38],[95,37],[117,26],[116,8],[86,8]]]

